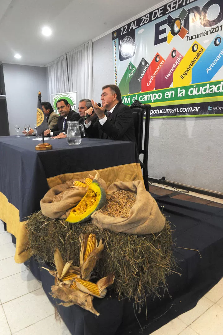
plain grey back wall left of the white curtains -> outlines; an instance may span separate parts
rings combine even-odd
[[[20,125],[20,134],[25,124],[36,124],[38,92],[42,101],[49,101],[47,68],[3,63],[5,91],[7,95],[10,135],[15,135],[14,125]]]

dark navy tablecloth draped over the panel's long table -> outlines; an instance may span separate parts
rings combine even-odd
[[[47,178],[136,162],[135,143],[82,138],[80,145],[66,139],[49,141],[52,150],[36,151],[33,137],[0,137],[0,192],[19,210],[20,221],[40,209],[49,190]]]

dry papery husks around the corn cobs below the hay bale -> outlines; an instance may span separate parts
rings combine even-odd
[[[104,245],[102,244],[102,239],[99,241],[99,244],[96,240],[95,248],[90,252],[88,257],[86,258],[86,261],[84,262],[84,256],[89,235],[89,233],[85,235],[81,234],[81,236],[79,237],[81,243],[79,267],[74,266],[72,261],[68,261],[65,263],[59,249],[56,248],[54,253],[54,263],[56,266],[56,270],[52,271],[45,267],[43,267],[43,269],[47,270],[51,275],[55,277],[55,285],[51,286],[51,295],[54,298],[58,298],[63,301],[63,303],[61,303],[60,305],[63,305],[64,307],[78,305],[83,309],[90,311],[91,313],[98,316],[99,313],[94,309],[92,304],[93,296],[103,298],[107,292],[106,287],[114,283],[115,275],[109,274],[108,276],[98,280],[96,285],[98,287],[99,294],[94,294],[92,291],[87,289],[87,287],[76,281],[76,278],[89,281],[99,254],[104,248]],[[75,277],[72,280],[63,280],[66,279],[65,276],[71,274],[75,274]]]

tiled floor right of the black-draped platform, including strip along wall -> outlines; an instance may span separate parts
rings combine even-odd
[[[149,185],[149,190],[151,193],[157,195],[168,194],[171,198],[223,208],[223,199],[207,195],[203,196],[195,192],[175,194],[176,189],[156,183]],[[178,189],[178,191],[183,190]],[[195,308],[180,315],[152,333],[152,335],[178,334],[223,335],[223,278],[199,300]]]

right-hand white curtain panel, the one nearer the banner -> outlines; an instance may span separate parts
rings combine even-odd
[[[69,88],[70,92],[77,91],[77,103],[80,99],[93,98],[92,58],[92,41],[67,54]]]

